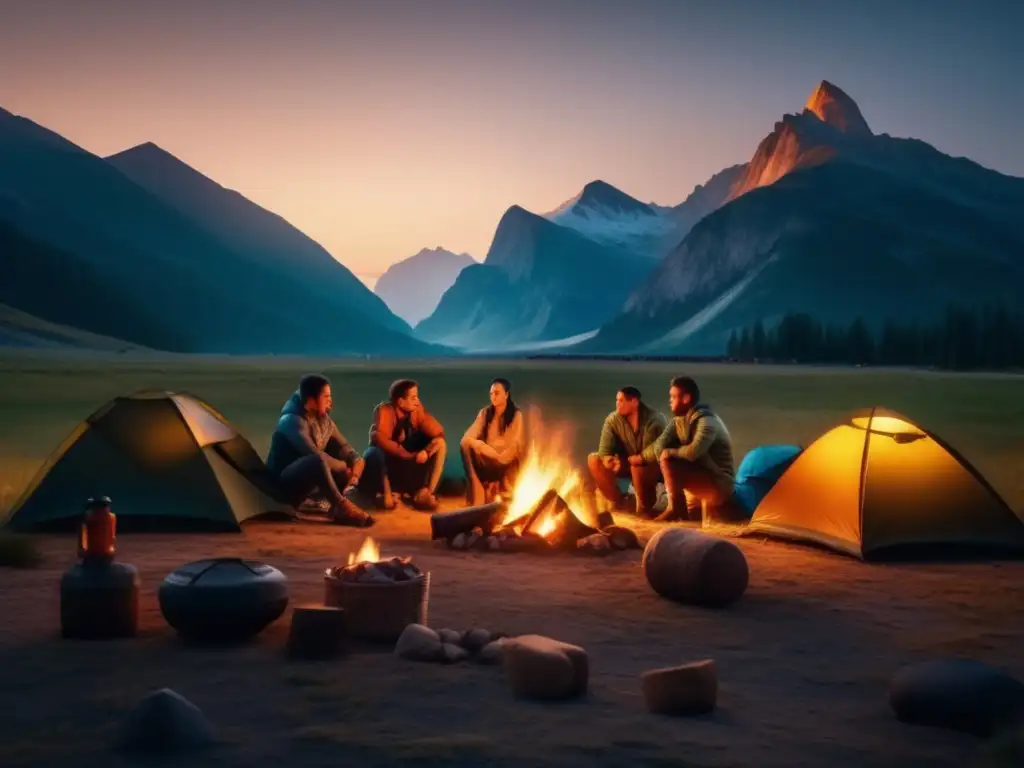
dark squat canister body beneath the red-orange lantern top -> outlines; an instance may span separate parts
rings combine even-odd
[[[77,562],[60,580],[60,635],[80,640],[134,637],[139,578],[123,562]]]

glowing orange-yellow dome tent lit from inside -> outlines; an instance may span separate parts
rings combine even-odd
[[[745,534],[864,560],[906,550],[1024,554],[1024,522],[940,437],[883,408],[852,414],[800,454]]]

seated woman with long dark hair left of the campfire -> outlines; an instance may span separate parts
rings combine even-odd
[[[493,494],[507,493],[525,451],[522,412],[512,399],[512,382],[490,382],[490,404],[481,409],[462,436],[462,463],[466,469],[466,502],[485,504]]]

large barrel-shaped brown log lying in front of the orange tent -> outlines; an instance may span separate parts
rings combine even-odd
[[[662,597],[723,607],[746,591],[750,568],[732,542],[688,528],[663,528],[643,551],[647,583]]]

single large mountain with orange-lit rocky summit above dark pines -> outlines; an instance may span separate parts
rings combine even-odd
[[[581,352],[721,354],[787,312],[928,324],[1024,295],[1024,179],[874,134],[822,82]]]

